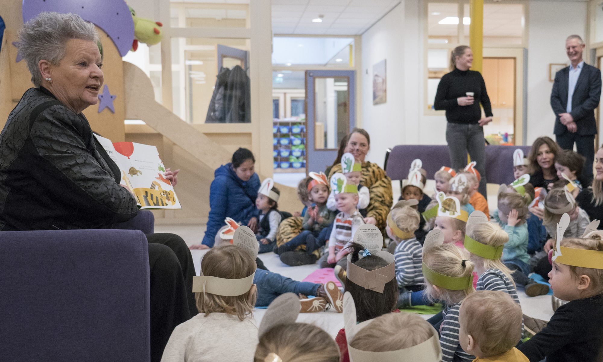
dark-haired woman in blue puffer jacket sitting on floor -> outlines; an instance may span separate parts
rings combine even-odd
[[[254,171],[256,159],[247,148],[239,148],[232,155],[232,162],[220,166],[209,188],[209,220],[201,244],[191,249],[209,249],[215,243],[216,233],[225,226],[227,217],[247,225],[257,226],[256,197],[260,178]]]

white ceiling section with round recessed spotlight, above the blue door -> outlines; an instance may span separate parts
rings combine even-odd
[[[272,0],[272,30],[274,34],[358,35],[399,3],[400,0]],[[323,22],[312,22],[320,14],[324,15]]]

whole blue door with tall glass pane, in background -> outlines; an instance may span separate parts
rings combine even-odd
[[[306,173],[324,171],[356,126],[356,72],[306,71]]]

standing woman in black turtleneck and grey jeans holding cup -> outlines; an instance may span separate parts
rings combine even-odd
[[[450,163],[455,170],[467,165],[467,151],[477,163],[481,175],[479,192],[486,197],[484,125],[492,121],[490,98],[486,92],[484,78],[479,72],[470,71],[473,53],[466,45],[452,51],[450,68],[438,84],[434,108],[446,110],[446,142],[450,152]],[[479,103],[484,107],[485,118]]]

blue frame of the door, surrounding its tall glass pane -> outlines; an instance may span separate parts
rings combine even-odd
[[[316,100],[314,91],[315,78],[347,78],[348,94],[348,132],[356,127],[356,71],[306,71],[306,174],[309,171],[319,172],[333,164],[337,157],[337,148],[316,149],[315,117]],[[339,147],[339,142],[336,145]]]

